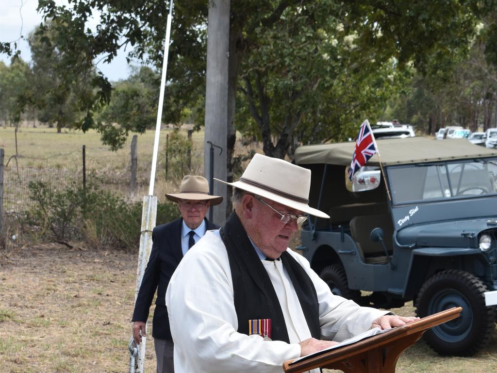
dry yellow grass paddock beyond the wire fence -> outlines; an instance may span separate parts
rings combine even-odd
[[[157,195],[163,195],[165,189],[176,187],[177,184],[177,181],[173,178],[169,178],[167,181],[165,178],[166,135],[171,133],[172,128],[161,130],[156,171]],[[186,136],[186,130],[183,130],[182,134]],[[57,133],[55,128],[43,126],[36,128],[20,127],[17,131],[17,157],[14,158],[13,156],[16,155],[15,135],[13,127],[0,127],[0,148],[3,148],[5,152],[4,164],[6,165],[8,162],[5,172],[10,172],[15,176],[19,174],[21,179],[31,177],[33,173],[40,175],[40,173],[43,173],[40,170],[47,167],[50,167],[52,172],[57,175],[61,169],[70,168],[71,166],[81,170],[82,149],[83,145],[85,145],[87,172],[96,170],[96,175],[105,178],[110,178],[112,174],[116,174],[115,178],[124,180],[125,183],[129,180],[133,134],[130,134],[122,149],[114,152],[110,151],[109,147],[102,145],[100,135],[94,130],[83,133],[82,131],[63,129],[62,133]],[[136,194],[138,199],[141,199],[142,195],[148,195],[154,137],[155,130],[147,130],[144,134],[138,134],[139,180],[138,193]],[[203,161],[201,161],[203,159],[203,139],[203,132],[193,132],[193,173],[203,173]],[[23,170],[25,171],[24,173]],[[123,172],[125,172],[125,175],[119,175]],[[124,185],[121,189],[126,190],[127,186]]]

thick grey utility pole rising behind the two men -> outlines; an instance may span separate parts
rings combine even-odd
[[[214,151],[214,177],[227,179],[227,136],[228,136],[228,59],[230,40],[230,0],[209,1],[207,21],[207,70],[205,93],[205,138],[204,175],[210,180],[210,144],[223,148]],[[226,220],[226,185],[214,183],[210,192],[222,195],[224,200],[214,207],[213,222],[223,224]],[[211,207],[212,208],[212,207]]]

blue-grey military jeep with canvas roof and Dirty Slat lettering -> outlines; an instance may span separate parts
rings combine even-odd
[[[351,183],[355,143],[297,148],[312,171],[303,255],[333,293],[420,317],[453,306],[461,316],[424,334],[442,355],[470,356],[488,343],[497,304],[497,151],[465,139],[377,141]],[[361,291],[363,290],[363,291]]]

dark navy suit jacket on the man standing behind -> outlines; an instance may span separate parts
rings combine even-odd
[[[219,226],[207,219],[205,222],[207,230],[219,229]],[[181,251],[182,224],[183,219],[180,218],[159,225],[152,232],[152,251],[138,291],[132,321],[147,321],[157,289],[156,308],[152,322],[152,336],[154,338],[172,340],[166,308],[166,290],[172,273],[183,258]]]

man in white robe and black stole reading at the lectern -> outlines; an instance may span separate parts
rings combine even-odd
[[[307,169],[256,154],[231,183],[235,212],[190,249],[167,288],[176,373],[281,373],[284,361],[371,327],[414,321],[333,295],[288,249],[302,213],[329,217],[308,205],[310,177]],[[244,318],[252,313],[264,317]]]

